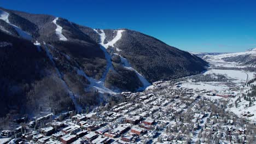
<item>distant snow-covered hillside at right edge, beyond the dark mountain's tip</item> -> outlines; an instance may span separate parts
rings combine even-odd
[[[203,57],[207,61],[230,62],[236,64],[256,65],[256,49],[249,49],[246,52],[225,53],[222,55]]]

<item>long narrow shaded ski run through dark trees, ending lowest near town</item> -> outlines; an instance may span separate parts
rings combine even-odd
[[[50,61],[53,63],[55,70],[57,71],[57,74],[59,76],[59,78],[61,79],[61,81],[63,82],[64,86],[66,87],[66,89],[68,90],[69,93],[69,97],[72,99],[73,104],[75,105],[75,110],[77,110],[78,112],[82,112],[82,107],[77,103],[77,101],[75,100],[75,95],[74,93],[69,89],[69,87],[67,86],[67,83],[63,80],[63,77],[60,73],[60,70],[56,67],[55,62],[53,61],[53,56],[51,55],[51,53],[49,52],[49,48],[48,46],[44,43],[45,46],[45,51],[46,51],[46,55],[49,57]]]

